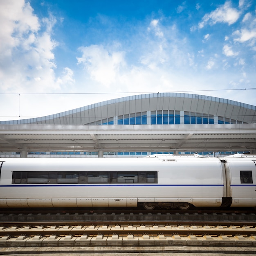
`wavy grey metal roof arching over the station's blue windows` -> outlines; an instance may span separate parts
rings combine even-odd
[[[0,124],[90,124],[100,119],[152,110],[182,110],[256,123],[256,106],[228,99],[184,93],[152,93],[102,101],[81,108]]]

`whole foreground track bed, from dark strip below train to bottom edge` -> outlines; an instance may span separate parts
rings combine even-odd
[[[254,213],[0,214],[0,255],[44,251],[119,253],[120,249],[127,254],[186,253],[186,250],[195,254],[256,254],[255,216]]]

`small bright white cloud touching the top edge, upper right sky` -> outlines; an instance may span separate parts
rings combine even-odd
[[[203,28],[208,23],[210,25],[215,25],[217,22],[224,22],[231,25],[235,23],[240,16],[240,12],[231,7],[231,2],[227,1],[224,5],[212,11],[211,13],[207,13],[202,18],[202,22],[198,24],[199,28]]]

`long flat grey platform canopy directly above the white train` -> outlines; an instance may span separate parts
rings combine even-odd
[[[256,124],[0,125],[1,152],[256,153]]]

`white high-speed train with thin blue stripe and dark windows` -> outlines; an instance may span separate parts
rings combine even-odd
[[[256,207],[256,155],[0,158],[0,207]]]

